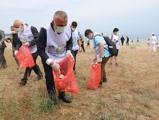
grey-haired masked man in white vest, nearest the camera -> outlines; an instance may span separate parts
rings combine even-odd
[[[44,67],[47,91],[54,103],[57,98],[52,70],[60,72],[58,63],[67,55],[72,56],[71,27],[67,26],[67,21],[67,14],[64,11],[56,11],[52,22],[41,28],[38,41],[38,51]],[[58,97],[65,103],[71,102],[65,92],[59,92]]]

